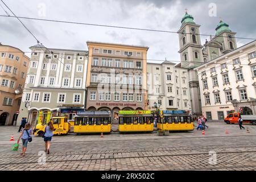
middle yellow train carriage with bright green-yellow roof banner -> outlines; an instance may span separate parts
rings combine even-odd
[[[121,110],[119,111],[119,132],[154,131],[154,115],[150,110]]]

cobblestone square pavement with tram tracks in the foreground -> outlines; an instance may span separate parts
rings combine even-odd
[[[256,170],[256,127],[250,133],[237,125],[208,123],[209,130],[150,134],[114,133],[53,137],[51,154],[43,162],[42,138],[28,143],[27,155],[11,151],[10,133],[18,138],[17,127],[0,127],[0,170]],[[225,134],[228,129],[229,134]],[[209,154],[210,152],[210,154]],[[216,161],[212,159],[216,152]],[[216,162],[216,163],[214,163]]]

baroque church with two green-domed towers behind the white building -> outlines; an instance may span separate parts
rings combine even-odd
[[[181,20],[179,31],[181,67],[188,69],[189,90],[191,95],[192,114],[200,115],[201,100],[199,77],[194,68],[229,53],[237,48],[236,32],[229,28],[229,24],[220,20],[216,27],[216,34],[201,44],[200,25],[196,24],[192,15],[187,11]]]

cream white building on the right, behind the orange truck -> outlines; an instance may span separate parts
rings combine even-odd
[[[256,114],[256,41],[195,70],[199,73],[203,114],[208,119],[223,120],[231,110]]]

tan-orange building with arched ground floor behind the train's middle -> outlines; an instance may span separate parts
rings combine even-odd
[[[108,110],[113,122],[119,110],[147,109],[148,47],[87,42],[87,110]]]

